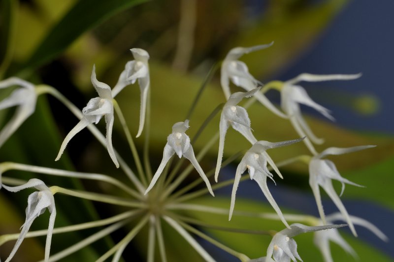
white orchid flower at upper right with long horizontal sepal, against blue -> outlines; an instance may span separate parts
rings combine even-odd
[[[352,80],[352,79],[357,79],[360,76],[361,74],[313,75],[313,74],[303,73],[298,75],[296,78],[286,81],[284,83],[281,91],[282,110],[290,118],[290,121],[294,126],[294,128],[296,129],[296,132],[301,137],[304,136],[307,137],[307,139],[305,139],[305,143],[308,146],[309,150],[314,155],[316,155],[317,152],[314,149],[311,141],[315,144],[322,144],[324,140],[318,138],[309,128],[308,124],[305,122],[304,118],[302,117],[299,104],[304,104],[316,109],[331,121],[334,121],[334,118],[330,115],[330,111],[327,108],[314,102],[312,98],[308,96],[305,89],[303,89],[301,86],[297,86],[296,84],[300,81],[319,82],[319,81],[329,81],[329,80]]]

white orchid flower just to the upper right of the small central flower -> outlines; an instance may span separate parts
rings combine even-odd
[[[256,88],[246,93],[243,92],[234,93],[230,96],[230,98],[223,106],[222,114],[220,116],[220,123],[219,123],[219,151],[218,151],[218,160],[216,163],[216,170],[215,170],[216,182],[218,182],[219,170],[220,170],[220,166],[222,165],[225,137],[227,130],[229,129],[230,126],[236,131],[240,132],[243,136],[245,136],[245,138],[248,139],[248,141],[252,145],[257,142],[257,139],[252,134],[250,128],[250,119],[248,116],[248,112],[246,112],[245,108],[238,106],[237,104],[243,98],[250,98],[259,90],[260,88]]]

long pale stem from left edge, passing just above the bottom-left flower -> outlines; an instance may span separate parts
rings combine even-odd
[[[75,178],[103,181],[110,183],[114,186],[117,186],[118,188],[124,190],[125,192],[127,192],[133,197],[141,199],[141,195],[138,194],[138,192],[136,192],[135,190],[129,188],[119,180],[103,174],[67,171],[63,169],[55,169],[55,168],[49,168],[43,166],[29,165],[29,164],[19,164],[13,162],[3,162],[0,164],[0,172],[4,173],[5,171],[8,170],[21,170],[21,171],[28,171],[28,172],[34,172],[40,174],[47,174],[47,175],[75,177]]]

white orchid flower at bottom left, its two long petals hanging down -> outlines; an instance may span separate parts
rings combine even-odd
[[[23,239],[25,238],[26,234],[28,233],[30,227],[32,226],[34,219],[44,213],[46,208],[48,208],[49,213],[51,213],[49,217],[48,233],[46,235],[45,242],[45,261],[48,261],[49,251],[51,249],[52,233],[56,217],[55,199],[51,190],[44,184],[44,182],[35,178],[30,179],[26,184],[21,186],[8,187],[6,185],[3,185],[3,187],[10,192],[18,192],[27,188],[35,188],[36,190],[38,190],[38,192],[34,192],[28,197],[28,207],[26,208],[25,223],[22,225],[21,233],[19,234],[15,246],[9,254],[8,258],[5,260],[5,262],[11,261],[19,246],[21,245]]]

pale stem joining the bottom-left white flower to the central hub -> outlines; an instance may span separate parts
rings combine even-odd
[[[79,198],[99,201],[108,204],[128,206],[128,207],[142,207],[142,208],[146,206],[146,204],[143,202],[131,201],[130,199],[122,198],[122,197],[114,197],[114,196],[103,195],[98,193],[69,190],[58,186],[50,187],[50,189],[52,194],[62,193],[72,197],[79,197]]]

